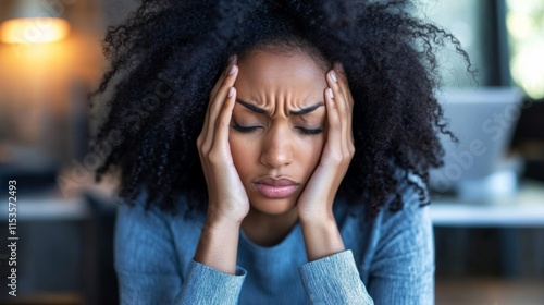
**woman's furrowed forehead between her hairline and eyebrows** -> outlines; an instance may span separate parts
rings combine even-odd
[[[256,50],[238,61],[238,96],[258,103],[277,98],[322,99],[326,69],[301,50]]]

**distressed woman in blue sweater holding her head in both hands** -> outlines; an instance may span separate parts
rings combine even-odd
[[[433,303],[433,51],[467,57],[408,9],[145,1],[109,30],[121,303]]]

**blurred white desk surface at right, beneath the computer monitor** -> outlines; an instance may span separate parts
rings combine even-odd
[[[544,227],[544,184],[523,182],[512,196],[485,200],[435,198],[430,210],[437,227]]]

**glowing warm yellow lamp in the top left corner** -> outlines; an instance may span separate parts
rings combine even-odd
[[[16,0],[11,5],[7,3],[8,15],[0,24],[0,41],[42,44],[65,38],[70,33],[70,24],[60,17],[64,9],[47,7],[45,3],[37,0]]]

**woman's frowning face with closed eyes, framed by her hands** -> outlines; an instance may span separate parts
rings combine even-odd
[[[254,210],[285,213],[325,143],[325,70],[293,50],[254,51],[238,61],[228,141]]]

